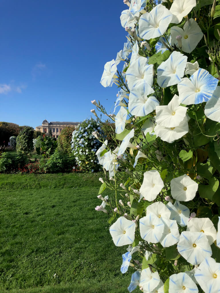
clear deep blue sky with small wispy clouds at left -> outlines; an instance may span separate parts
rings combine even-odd
[[[32,127],[91,117],[91,100],[110,112],[117,86],[104,64],[123,49],[123,0],[1,0],[0,121]]]

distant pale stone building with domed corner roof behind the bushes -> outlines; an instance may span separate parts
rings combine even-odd
[[[51,129],[52,135],[57,138],[62,129],[68,126],[76,128],[78,124],[79,122],[48,122],[48,120],[43,120],[42,125],[35,127],[35,130],[49,134]]]

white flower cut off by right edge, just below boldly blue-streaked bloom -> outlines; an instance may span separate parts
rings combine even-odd
[[[217,86],[210,100],[205,105],[205,115],[213,120],[220,122],[220,86]]]

